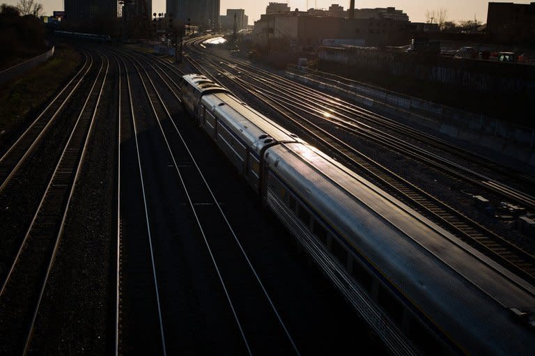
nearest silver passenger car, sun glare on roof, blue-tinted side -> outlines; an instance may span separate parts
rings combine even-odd
[[[533,286],[316,148],[277,145],[266,160],[462,350],[534,350],[534,330],[511,312],[534,311]]]

